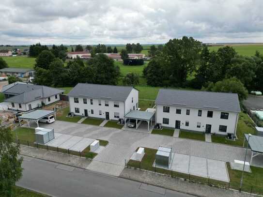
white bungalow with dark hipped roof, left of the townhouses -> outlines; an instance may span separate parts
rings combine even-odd
[[[18,111],[29,111],[60,100],[64,90],[39,86],[22,82],[15,82],[2,87],[4,102],[8,107]]]

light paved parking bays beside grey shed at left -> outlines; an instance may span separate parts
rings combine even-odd
[[[69,149],[70,151],[82,152],[94,139],[55,133],[55,139],[46,143],[47,146]]]

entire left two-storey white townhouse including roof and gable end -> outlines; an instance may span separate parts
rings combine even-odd
[[[69,93],[70,112],[106,120],[138,109],[139,91],[130,86],[78,83]]]

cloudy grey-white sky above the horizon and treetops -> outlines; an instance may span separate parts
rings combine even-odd
[[[1,0],[0,45],[263,43],[263,0]]]

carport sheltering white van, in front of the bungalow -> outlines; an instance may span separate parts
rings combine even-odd
[[[37,124],[37,127],[39,127],[38,125],[38,121],[40,119],[43,119],[46,116],[49,116],[53,114],[56,120],[56,111],[52,111],[52,110],[42,110],[42,109],[37,109],[35,111],[31,111],[27,114],[23,114],[22,116],[18,117],[18,121],[19,121],[19,125],[21,120],[27,121],[28,123],[28,127],[30,127],[30,121],[35,121],[35,123]]]

